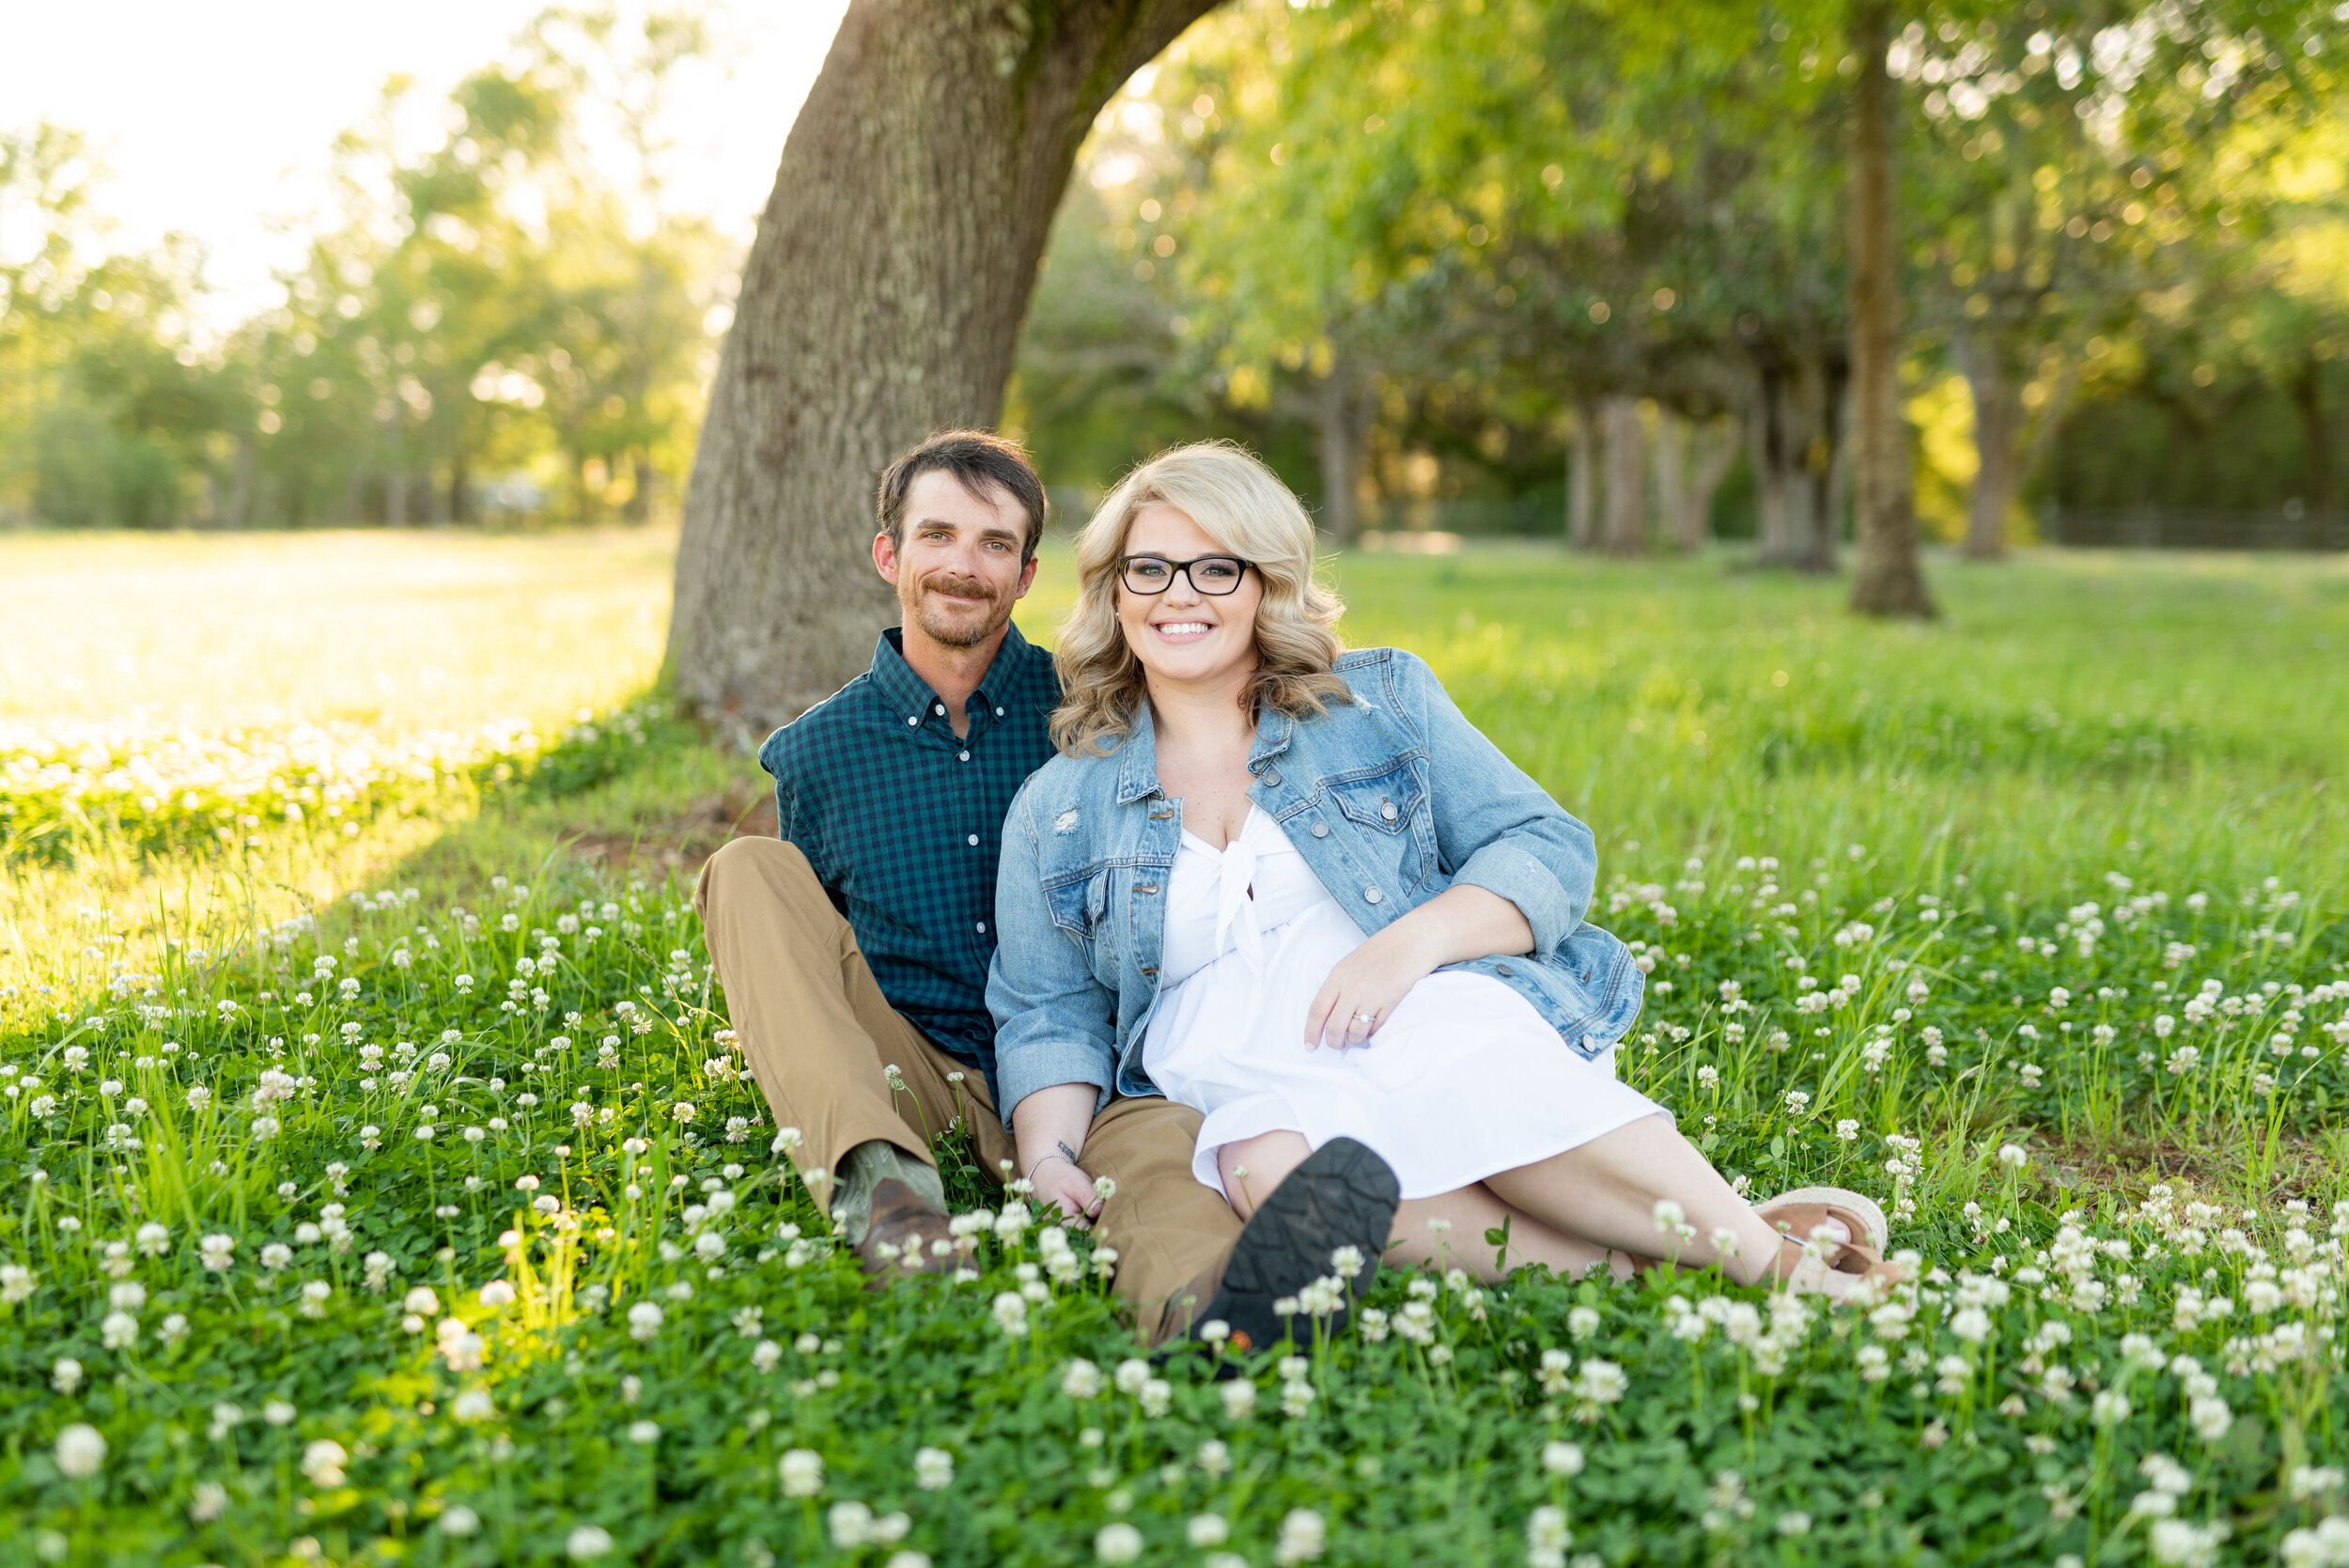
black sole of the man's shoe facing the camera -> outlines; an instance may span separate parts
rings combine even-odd
[[[1379,1272],[1398,1202],[1402,1185],[1386,1160],[1353,1138],[1330,1138],[1271,1190],[1240,1230],[1224,1284],[1191,1317],[1193,1338],[1200,1324],[1221,1319],[1231,1329],[1231,1350],[1280,1343],[1287,1324],[1273,1312],[1273,1303],[1330,1275],[1330,1256],[1339,1246],[1362,1253],[1362,1272],[1348,1289],[1351,1303]],[[1339,1307],[1325,1331],[1344,1329],[1346,1314]],[[1311,1319],[1297,1324],[1297,1333],[1311,1336]]]

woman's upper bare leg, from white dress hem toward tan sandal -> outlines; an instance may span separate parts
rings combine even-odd
[[[1543,1225],[1595,1246],[1722,1265],[1741,1284],[1769,1277],[1783,1237],[1661,1115],[1640,1117],[1564,1155],[1487,1176],[1501,1199]],[[1696,1235],[1661,1235],[1656,1204],[1675,1202]],[[1823,1291],[1846,1296],[1856,1275],[1825,1272]]]

